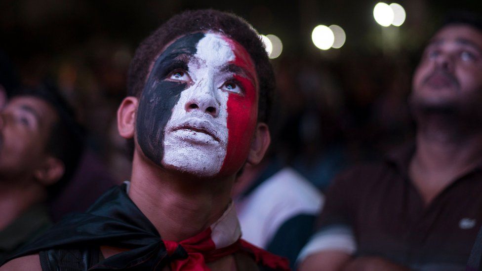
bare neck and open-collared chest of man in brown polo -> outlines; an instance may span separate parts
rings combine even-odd
[[[409,174],[426,203],[482,162],[482,131],[463,122],[449,116],[418,119]]]

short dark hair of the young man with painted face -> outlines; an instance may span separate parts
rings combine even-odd
[[[203,31],[220,32],[236,40],[249,53],[259,79],[258,120],[267,122],[275,76],[263,42],[253,27],[239,16],[213,9],[189,10],[177,14],[141,42],[129,66],[128,95],[140,97],[150,65],[169,41]]]

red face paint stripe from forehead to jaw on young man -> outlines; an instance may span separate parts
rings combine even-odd
[[[235,54],[230,62],[245,71],[244,75],[234,75],[244,89],[243,95],[230,93],[227,103],[228,146],[220,174],[237,172],[249,153],[251,138],[256,128],[258,116],[258,81],[256,69],[249,53],[238,42],[225,38]],[[250,77],[250,78],[249,78]]]

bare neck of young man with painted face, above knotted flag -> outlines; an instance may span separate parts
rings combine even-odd
[[[201,179],[134,154],[129,197],[162,238],[181,241],[218,220],[231,201],[234,176]]]

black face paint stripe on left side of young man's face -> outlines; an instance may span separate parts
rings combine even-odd
[[[164,127],[181,92],[188,87],[186,83],[168,81],[166,76],[176,68],[187,69],[189,57],[180,56],[195,55],[202,38],[203,33],[189,34],[169,45],[156,60],[142,91],[136,119],[137,142],[144,155],[158,165],[163,156]]]

